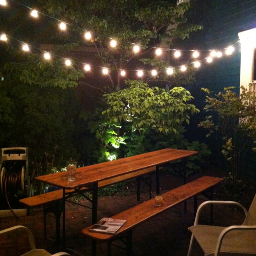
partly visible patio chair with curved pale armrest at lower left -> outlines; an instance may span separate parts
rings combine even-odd
[[[14,226],[11,228],[6,228],[4,230],[0,230],[0,235],[4,234],[4,233],[8,233],[8,232],[15,232],[17,230],[21,231],[21,232],[22,231],[26,232],[26,234],[28,236],[29,243],[30,243],[30,249],[31,249],[29,252],[26,252],[25,254],[22,254],[21,256],[70,256],[70,254],[68,254],[66,252],[58,252],[55,254],[50,254],[49,252],[47,252],[44,249],[36,249],[32,232],[24,226]]]

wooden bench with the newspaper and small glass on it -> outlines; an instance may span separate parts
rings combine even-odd
[[[196,206],[197,195],[204,192],[209,188],[213,188],[216,184],[220,183],[223,178],[216,178],[204,176],[169,192],[163,194],[164,204],[162,206],[155,206],[154,198],[134,206],[124,212],[116,214],[110,218],[126,220],[124,225],[115,234],[104,234],[90,231],[92,226],[84,228],[82,234],[92,239],[92,255],[96,256],[96,242],[108,242],[108,256],[110,256],[110,245],[113,240],[120,237],[126,237],[126,253],[128,256],[132,255],[132,229],[139,224],[153,218],[154,216],[184,202],[185,200],[194,197]]]

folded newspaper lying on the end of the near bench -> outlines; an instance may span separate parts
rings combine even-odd
[[[114,234],[114,233],[116,233],[116,231],[119,228],[121,228],[121,226],[125,222],[126,222],[126,220],[117,220],[117,219],[112,219],[112,218],[102,218],[92,228],[90,228],[90,231]]]

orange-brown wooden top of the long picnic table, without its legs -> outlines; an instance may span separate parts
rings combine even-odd
[[[74,181],[68,181],[67,172],[38,176],[36,180],[65,189],[83,186],[91,188],[93,184],[102,180],[136,172],[147,167],[165,164],[195,154],[198,154],[198,152],[166,148],[136,156],[120,158],[110,162],[76,168],[76,179]]]

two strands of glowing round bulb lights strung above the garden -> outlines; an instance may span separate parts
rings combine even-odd
[[[20,4],[19,2],[16,2],[14,0],[9,0],[9,1],[15,2],[16,4]],[[0,0],[0,5],[6,6],[6,4],[7,4],[6,0]],[[58,20],[58,19],[56,19],[52,16],[49,16],[47,14],[44,14],[44,13],[39,12],[37,10],[34,10],[34,9],[28,7],[28,6],[23,5],[23,4],[20,4],[20,5],[24,6],[25,8],[28,8],[30,10],[30,15],[34,18],[38,18],[38,14],[41,14],[41,15],[47,16],[49,18],[52,18],[54,20],[57,20],[58,21],[58,26],[59,26],[60,30],[62,30],[62,31],[65,31],[67,26],[74,26],[72,24],[62,22],[61,20]],[[82,28],[80,28],[80,29],[82,30]],[[32,48],[35,48],[35,49],[39,50],[40,52],[42,52],[43,58],[45,60],[50,61],[52,56],[62,58],[64,60],[64,64],[66,66],[72,66],[72,64],[74,64],[74,63],[79,63],[79,64],[82,64],[84,66],[83,68],[86,72],[91,70],[91,66],[95,66],[95,65],[91,65],[89,63],[83,63],[83,62],[71,60],[70,58],[65,58],[63,56],[57,56],[56,54],[46,52],[45,50],[36,48],[36,47],[32,46],[31,44],[26,44],[26,43],[24,43],[24,42],[22,42],[22,41],[20,41],[16,38],[13,38],[13,37],[8,36],[6,34],[1,34],[0,35],[0,40],[1,41],[7,41],[9,38],[12,39],[12,40],[18,41],[21,44],[22,50],[25,51],[25,52],[30,52],[31,51],[30,49],[32,49]],[[108,37],[108,38],[109,38],[110,47],[111,48],[116,48],[118,46],[118,41],[113,39],[113,38],[110,38],[110,37]],[[88,40],[88,41],[91,40],[93,42],[93,33],[90,32],[90,31],[85,31],[84,32],[84,39]],[[132,50],[135,54],[140,52],[141,46],[139,44],[134,44],[134,43],[130,43],[130,44],[133,45]],[[167,51],[167,50],[168,51],[173,51],[174,52],[173,56],[176,59],[180,58],[182,56],[182,52],[184,52],[184,51],[192,52],[191,58],[193,58],[193,61],[190,62],[189,64],[179,65],[179,66],[170,66],[168,68],[163,69],[166,72],[166,74],[168,74],[168,75],[174,74],[174,70],[177,69],[177,68],[180,69],[180,71],[185,72],[188,68],[188,65],[193,65],[194,68],[199,68],[203,61],[206,61],[207,63],[211,63],[211,62],[213,62],[214,58],[221,58],[224,54],[229,56],[229,55],[233,54],[233,52],[235,50],[234,45],[228,46],[228,47],[226,47],[222,50],[212,50],[212,49],[210,49],[210,50],[192,50],[192,49],[190,49],[190,50],[180,50],[180,49],[166,49],[166,48],[160,48],[160,47],[150,47],[150,48],[155,49],[156,56],[160,56],[161,54],[163,54],[163,51]],[[209,55],[206,58],[203,58],[203,59],[199,60],[201,51],[208,51]],[[96,66],[96,67],[102,68],[102,73],[104,75],[107,75],[110,72],[110,70],[106,67],[102,67],[102,66]],[[120,75],[125,76],[126,71],[129,71],[129,70],[121,69],[120,70]],[[130,71],[137,72],[138,77],[144,76],[144,74],[146,72],[148,72],[148,73],[150,72],[152,77],[156,77],[158,75],[158,72],[160,72],[162,70],[152,69],[150,71],[148,71],[148,70],[130,70]]]

